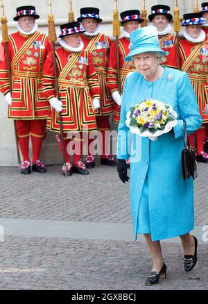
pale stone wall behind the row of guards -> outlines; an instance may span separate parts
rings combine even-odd
[[[46,0],[43,1],[16,1],[16,0],[6,0],[4,1],[5,14],[8,18],[8,31],[12,33],[16,31],[16,22],[12,21],[12,18],[15,17],[15,9],[17,6],[24,5],[35,5],[37,13],[40,15],[40,19],[37,19],[37,23],[40,26],[40,30],[44,33],[47,33],[47,17],[48,17],[48,7]],[[198,6],[203,1],[198,1]],[[112,11],[114,9],[113,0],[74,0],[73,1],[73,11],[75,17],[78,17],[80,7],[83,6],[95,6],[101,10],[101,18],[103,23],[101,24],[101,31],[107,33],[112,37]],[[148,15],[150,14],[151,6],[159,3],[165,3],[168,6],[171,6],[173,12],[175,1],[166,0],[166,1],[146,1],[146,10]],[[193,0],[178,0],[178,6],[180,8],[180,16],[185,12],[193,12],[194,3]],[[67,0],[52,0],[52,10],[55,17],[55,24],[57,25],[57,33],[59,33],[59,26],[67,22],[68,18],[68,1]],[[134,8],[139,8],[141,10],[141,0],[119,0],[118,1],[119,12],[123,10],[130,10]],[[45,164],[57,164],[61,162],[61,157],[58,149],[58,144],[55,141],[54,133],[48,132],[46,140],[44,140],[44,145],[42,148],[42,159]],[[15,136],[13,130],[13,122],[10,119],[7,119],[7,105],[4,100],[3,95],[0,93],[0,166],[16,166],[17,165],[17,156],[16,156],[16,147],[15,147]]]

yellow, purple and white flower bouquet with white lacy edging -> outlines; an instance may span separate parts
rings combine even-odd
[[[125,124],[132,133],[150,140],[157,140],[159,135],[168,133],[177,124],[177,113],[171,105],[154,99],[145,99],[130,108]]]

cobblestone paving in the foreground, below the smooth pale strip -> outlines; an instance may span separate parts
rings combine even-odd
[[[179,244],[162,244],[167,278],[145,287],[150,271],[146,244],[34,237],[6,237],[0,246],[1,289],[204,289],[207,245],[191,273],[183,270]],[[174,262],[173,262],[174,261]]]

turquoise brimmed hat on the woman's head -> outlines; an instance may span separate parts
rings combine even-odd
[[[166,52],[159,47],[159,40],[157,36],[157,28],[155,26],[145,26],[130,33],[130,53],[125,57],[125,61],[132,61],[132,56],[146,53],[157,52],[161,56],[165,56]]]

